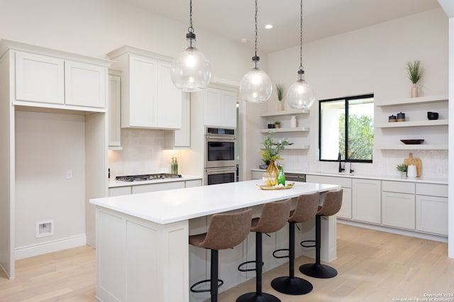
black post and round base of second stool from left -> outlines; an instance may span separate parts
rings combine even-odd
[[[262,233],[255,233],[255,293],[245,293],[236,302],[281,302],[279,298],[262,293]]]

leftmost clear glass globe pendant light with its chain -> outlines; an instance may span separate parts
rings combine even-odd
[[[209,60],[196,48],[196,35],[192,27],[192,0],[189,0],[189,28],[186,41],[187,48],[172,61],[170,76],[178,89],[185,92],[199,91],[208,86],[211,67]]]

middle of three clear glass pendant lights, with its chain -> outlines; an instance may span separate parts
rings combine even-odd
[[[259,68],[260,57],[257,56],[257,1],[255,0],[255,56],[253,57],[253,69],[241,79],[239,99],[262,103],[270,99],[272,83],[270,77]]]

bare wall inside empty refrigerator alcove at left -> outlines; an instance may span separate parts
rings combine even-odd
[[[84,237],[85,116],[16,111],[16,150],[16,250]],[[54,234],[36,238],[43,220]]]

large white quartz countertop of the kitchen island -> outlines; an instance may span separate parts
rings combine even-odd
[[[291,189],[262,190],[262,180],[239,181],[211,186],[196,186],[142,194],[90,199],[90,203],[167,224],[215,213],[236,210],[311,194],[316,191],[338,189],[332,184],[296,182]]]

